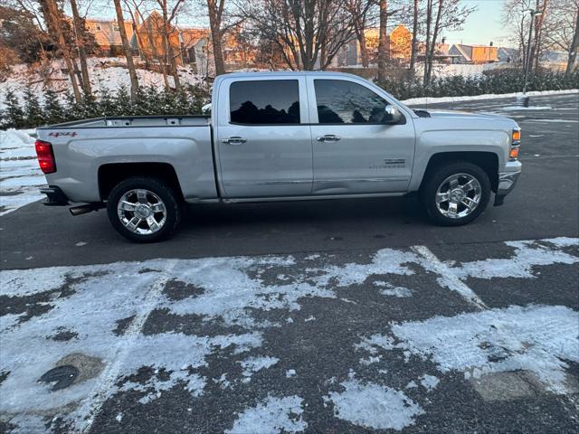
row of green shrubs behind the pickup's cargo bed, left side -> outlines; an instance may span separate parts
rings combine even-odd
[[[103,116],[198,115],[208,100],[209,90],[193,85],[185,85],[179,91],[158,90],[152,86],[141,88],[134,103],[123,86],[115,92],[102,90],[86,94],[80,102],[75,101],[70,92],[59,96],[47,89],[39,96],[28,88],[21,103],[14,91],[9,90],[5,95],[5,109],[0,112],[0,128],[33,128]]]

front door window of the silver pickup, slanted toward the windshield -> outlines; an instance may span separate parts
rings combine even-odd
[[[372,90],[346,80],[314,80],[318,123],[380,123],[388,102]]]

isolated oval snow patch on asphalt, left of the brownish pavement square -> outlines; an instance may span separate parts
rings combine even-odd
[[[330,392],[325,400],[334,404],[334,415],[341,420],[365,428],[400,430],[424,413],[402,391],[353,378],[340,384],[344,392]]]

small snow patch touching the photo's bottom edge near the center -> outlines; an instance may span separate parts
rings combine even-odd
[[[233,423],[227,434],[278,434],[280,432],[302,432],[308,423],[302,420],[302,399],[297,395],[276,398],[269,396],[265,401],[244,410]]]

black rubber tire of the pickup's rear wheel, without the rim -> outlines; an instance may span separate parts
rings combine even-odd
[[[165,221],[161,228],[154,233],[130,231],[120,220],[118,211],[119,201],[124,194],[133,190],[147,190],[150,193],[154,193],[165,205]],[[157,178],[134,176],[121,181],[112,189],[107,200],[107,213],[109,214],[109,221],[112,226],[129,241],[157,242],[166,240],[176,230],[181,220],[181,201],[178,199],[175,189],[164,181]],[[143,224],[147,223],[145,222]]]

